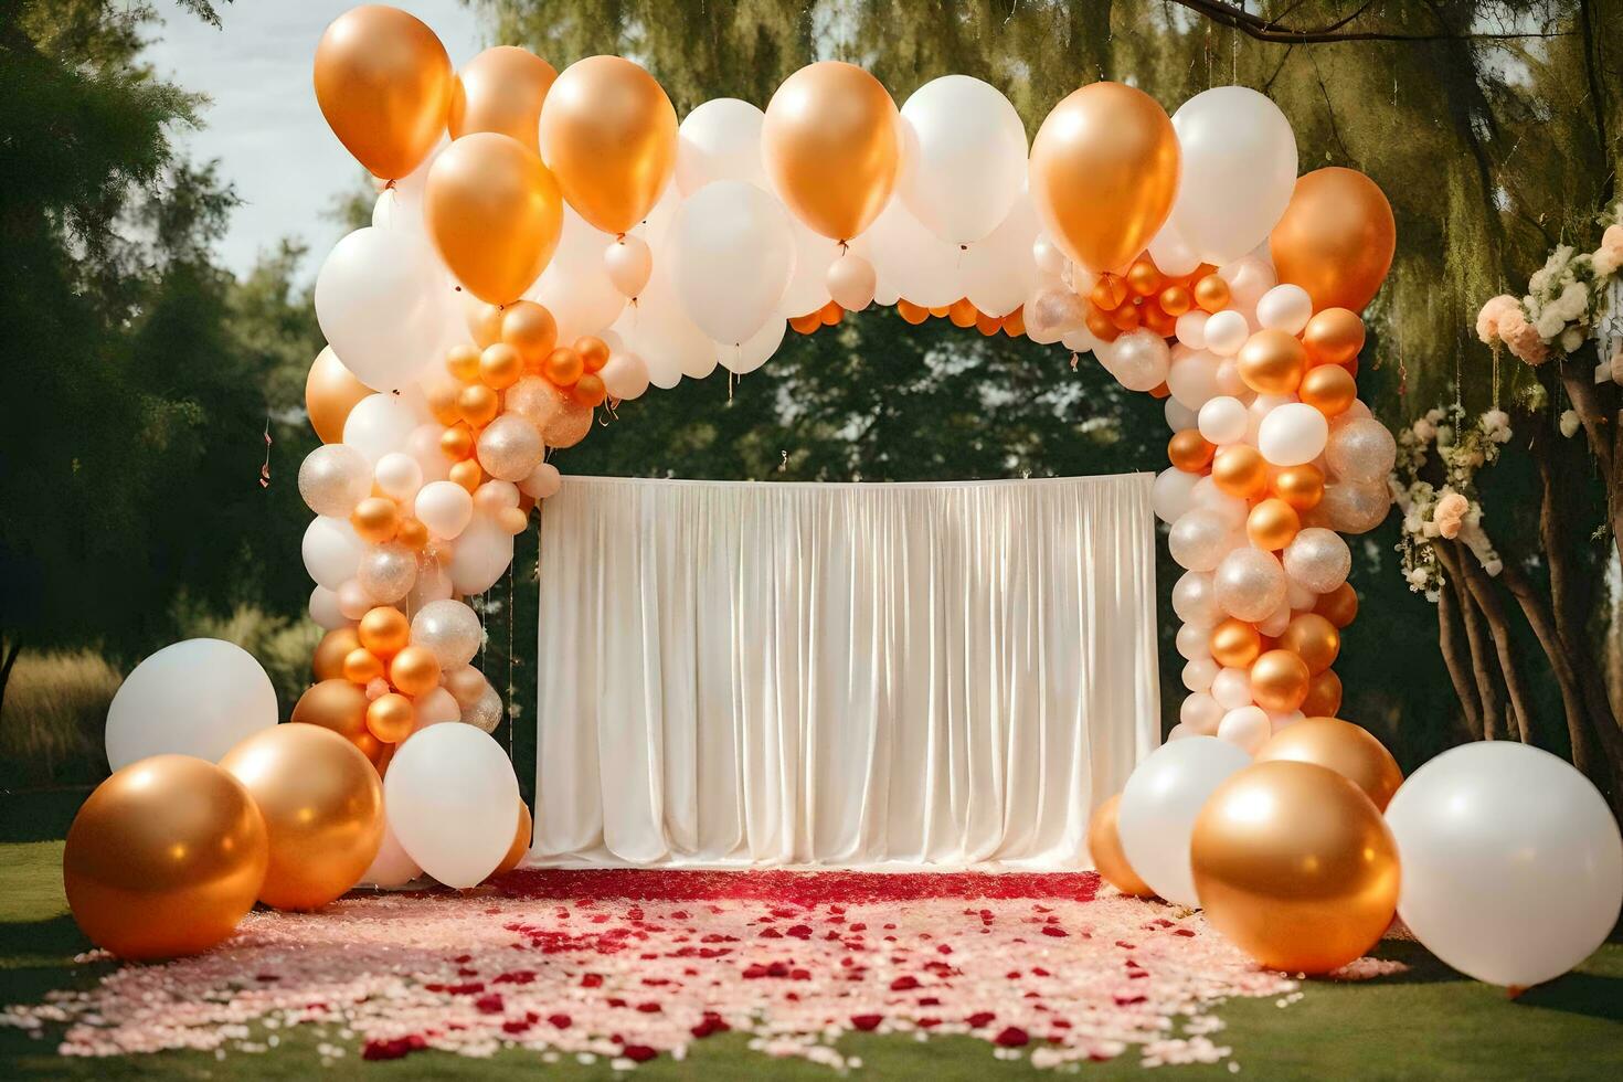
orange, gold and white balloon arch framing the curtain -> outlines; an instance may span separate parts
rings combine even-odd
[[[1263,94],[1222,86],[1169,117],[1094,83],[1027,149],[979,79],[935,79],[898,110],[862,68],[821,62],[764,112],[719,99],[678,125],[630,60],[555,73],[498,47],[456,73],[427,26],[380,6],[326,31],[315,89],[381,190],[315,289],[329,347],[307,401],[325,446],[299,487],[326,638],[292,719],[386,775],[396,832],[396,748],[503,714],[459,599],[498,581],[558,490],[547,449],[583,440],[605,402],[717,363],[750,371],[789,328],[870,303],[1092,352],[1165,399],[1154,508],[1186,569],[1172,599],[1190,691],[1172,740],[1216,736],[1248,761],[1341,707],[1332,665],[1357,612],[1341,535],[1384,517],[1396,454],[1355,386],[1394,225],[1362,174],[1298,177]],[[1096,839],[1107,874],[1113,839],[1113,822]],[[506,848],[492,839],[459,878]],[[1195,900],[1130,876],[1112,879]]]

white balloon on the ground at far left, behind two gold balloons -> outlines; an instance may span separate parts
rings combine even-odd
[[[114,771],[157,754],[217,762],[276,723],[276,689],[260,662],[234,642],[187,639],[135,667],[107,707]]]

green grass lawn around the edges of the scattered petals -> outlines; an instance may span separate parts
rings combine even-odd
[[[0,844],[0,1004],[37,1001],[52,988],[94,981],[105,967],[75,967],[88,947],[68,917],[62,895],[62,842]],[[1412,942],[1383,942],[1380,957],[1407,962],[1397,978],[1362,985],[1310,981],[1305,996],[1287,1006],[1274,999],[1235,999],[1219,1015],[1229,1028],[1214,1040],[1233,1048],[1230,1063],[1164,1067],[1177,1079],[1620,1079],[1623,1077],[1623,944],[1610,942],[1576,973],[1534,988],[1511,1001],[1503,990],[1466,980]],[[493,1059],[417,1053],[404,1059],[365,1063],[359,1048],[323,1067],[321,1040],[336,1033],[284,1030],[268,1054],[162,1053],[123,1059],[60,1059],[49,1038],[0,1028],[0,1079],[308,1079],[527,1077],[542,1069],[534,1053],[506,1051]],[[649,1079],[829,1079],[833,1072],[800,1063],[773,1061],[745,1048],[745,1037],[695,1041],[687,1061],[669,1056],[638,1067]],[[870,1077],[982,1080],[1035,1074],[1024,1059],[1000,1061],[984,1041],[948,1037],[927,1043],[911,1037],[859,1033],[842,1050],[863,1061]],[[573,1061],[545,1067],[563,1077],[607,1077],[599,1063]],[[1136,1051],[1105,1064],[1089,1064],[1096,1079],[1139,1076]]]

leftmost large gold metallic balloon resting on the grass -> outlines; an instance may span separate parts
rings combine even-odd
[[[206,951],[253,908],[265,819],[206,759],[153,756],[96,787],[68,827],[62,882],[91,941],[122,959]]]

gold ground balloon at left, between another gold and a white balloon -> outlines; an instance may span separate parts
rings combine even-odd
[[[383,844],[383,785],[354,743],[318,725],[273,725],[226,753],[269,835],[260,900],[316,908],[360,881]]]

